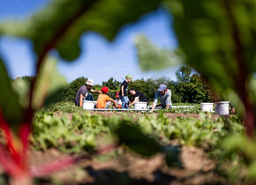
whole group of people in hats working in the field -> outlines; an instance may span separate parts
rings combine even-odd
[[[136,91],[135,89],[129,89],[129,83],[132,82],[132,76],[126,75],[125,80],[120,86],[120,91],[116,93],[116,100],[113,100],[107,95],[109,88],[106,86],[102,87],[102,91],[93,90],[94,81],[88,79],[86,85],[82,85],[76,95],[75,104],[79,107],[83,107],[83,100],[94,100],[91,93],[100,93],[96,107],[97,108],[107,108],[113,103],[113,107],[116,108],[129,108],[132,107],[136,102],[147,102],[148,99],[143,93]],[[91,92],[91,93],[90,93]],[[132,96],[129,100],[128,93]],[[161,104],[157,105],[158,99],[161,100]],[[171,91],[167,89],[166,85],[159,85],[157,92],[155,93],[154,103],[150,111],[153,112],[155,108],[166,108],[171,107]]]

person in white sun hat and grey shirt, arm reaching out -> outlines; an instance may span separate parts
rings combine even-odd
[[[75,99],[76,106],[83,107],[84,98],[86,100],[94,100],[93,95],[89,92],[102,93],[101,91],[93,90],[92,89],[93,86],[94,86],[94,80],[88,79],[87,82],[86,82],[86,85],[82,85],[79,88],[79,91],[78,91],[78,93],[76,95],[76,99]]]

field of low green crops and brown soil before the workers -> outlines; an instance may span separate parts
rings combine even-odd
[[[256,147],[245,146],[243,136],[237,115],[200,113],[197,106],[95,113],[65,102],[34,116],[29,158],[40,165],[81,157],[38,184],[253,184]]]

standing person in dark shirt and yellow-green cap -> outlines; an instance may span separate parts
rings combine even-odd
[[[132,76],[131,75],[126,75],[125,80],[121,85],[120,88],[120,99],[122,100],[122,108],[129,108],[129,98],[128,98],[128,83],[132,82]]]

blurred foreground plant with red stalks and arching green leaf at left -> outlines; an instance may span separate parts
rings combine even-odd
[[[64,78],[56,72],[55,63],[47,60],[49,52],[56,49],[64,60],[72,61],[81,52],[79,38],[83,33],[94,31],[111,41],[124,24],[136,21],[148,11],[154,11],[158,4],[159,1],[155,0],[149,0],[147,4],[138,0],[54,0],[26,20],[10,20],[0,24],[0,36],[26,38],[33,44],[35,56],[35,78],[27,92],[19,94],[21,97],[11,87],[0,57],[0,85],[3,88],[0,91],[3,113],[1,129],[5,138],[0,162],[10,174],[13,184],[32,183],[34,174],[28,169],[26,152],[34,112],[51,103],[63,89]],[[68,161],[62,163],[61,167],[75,159]],[[56,168],[45,167],[44,173]]]

